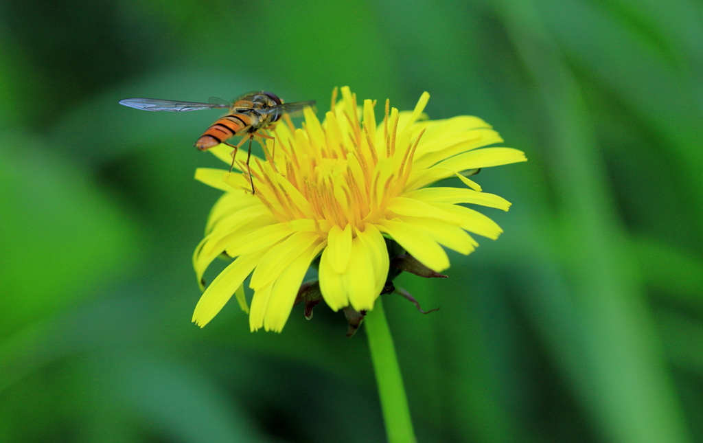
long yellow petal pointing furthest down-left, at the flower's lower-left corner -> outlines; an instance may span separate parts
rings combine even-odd
[[[263,252],[254,252],[239,257],[210,283],[195,305],[193,321],[196,325],[202,328],[220,312],[244,279],[251,274],[262,255]]]

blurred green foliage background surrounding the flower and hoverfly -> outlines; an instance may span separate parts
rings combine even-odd
[[[343,85],[529,158],[477,176],[498,241],[396,281],[439,312],[385,296],[420,442],[703,442],[695,0],[2,1],[0,442],[384,441],[341,313],[193,326],[218,114],[117,104]]]

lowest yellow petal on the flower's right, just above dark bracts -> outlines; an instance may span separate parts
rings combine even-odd
[[[440,272],[449,268],[449,257],[446,256],[446,252],[422,229],[402,221],[392,220],[379,220],[375,226],[379,231],[389,234],[410,255],[432,271]]]

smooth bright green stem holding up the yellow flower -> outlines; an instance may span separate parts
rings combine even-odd
[[[364,322],[388,442],[415,443],[408,399],[381,297],[376,299],[373,311],[366,314]]]

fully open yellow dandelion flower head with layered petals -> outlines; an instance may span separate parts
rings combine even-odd
[[[460,172],[527,159],[511,148],[477,149],[503,141],[477,117],[424,120],[429,98],[425,92],[415,110],[402,112],[389,110],[386,101],[377,126],[375,101],[359,108],[344,87],[322,123],[309,108],[302,129],[279,122],[269,131],[276,143],[267,141],[266,160],[252,156],[254,196],[245,172],[198,169],[196,179],[225,191],[193,255],[198,281],[222,252],[235,259],[205,289],[193,321],[205,326],[236,291],[247,311],[241,285],[253,271],[250,328],[282,330],[319,254],[320,288],[330,308],[368,311],[388,274],[384,236],[434,271],[449,268],[442,246],[462,254],[475,249],[467,231],[498,238],[502,230],[494,221],[459,204],[508,210],[510,203],[481,192]],[[231,162],[231,148],[212,151]],[[246,171],[242,159],[238,167]],[[426,187],[451,176],[469,188]]]

